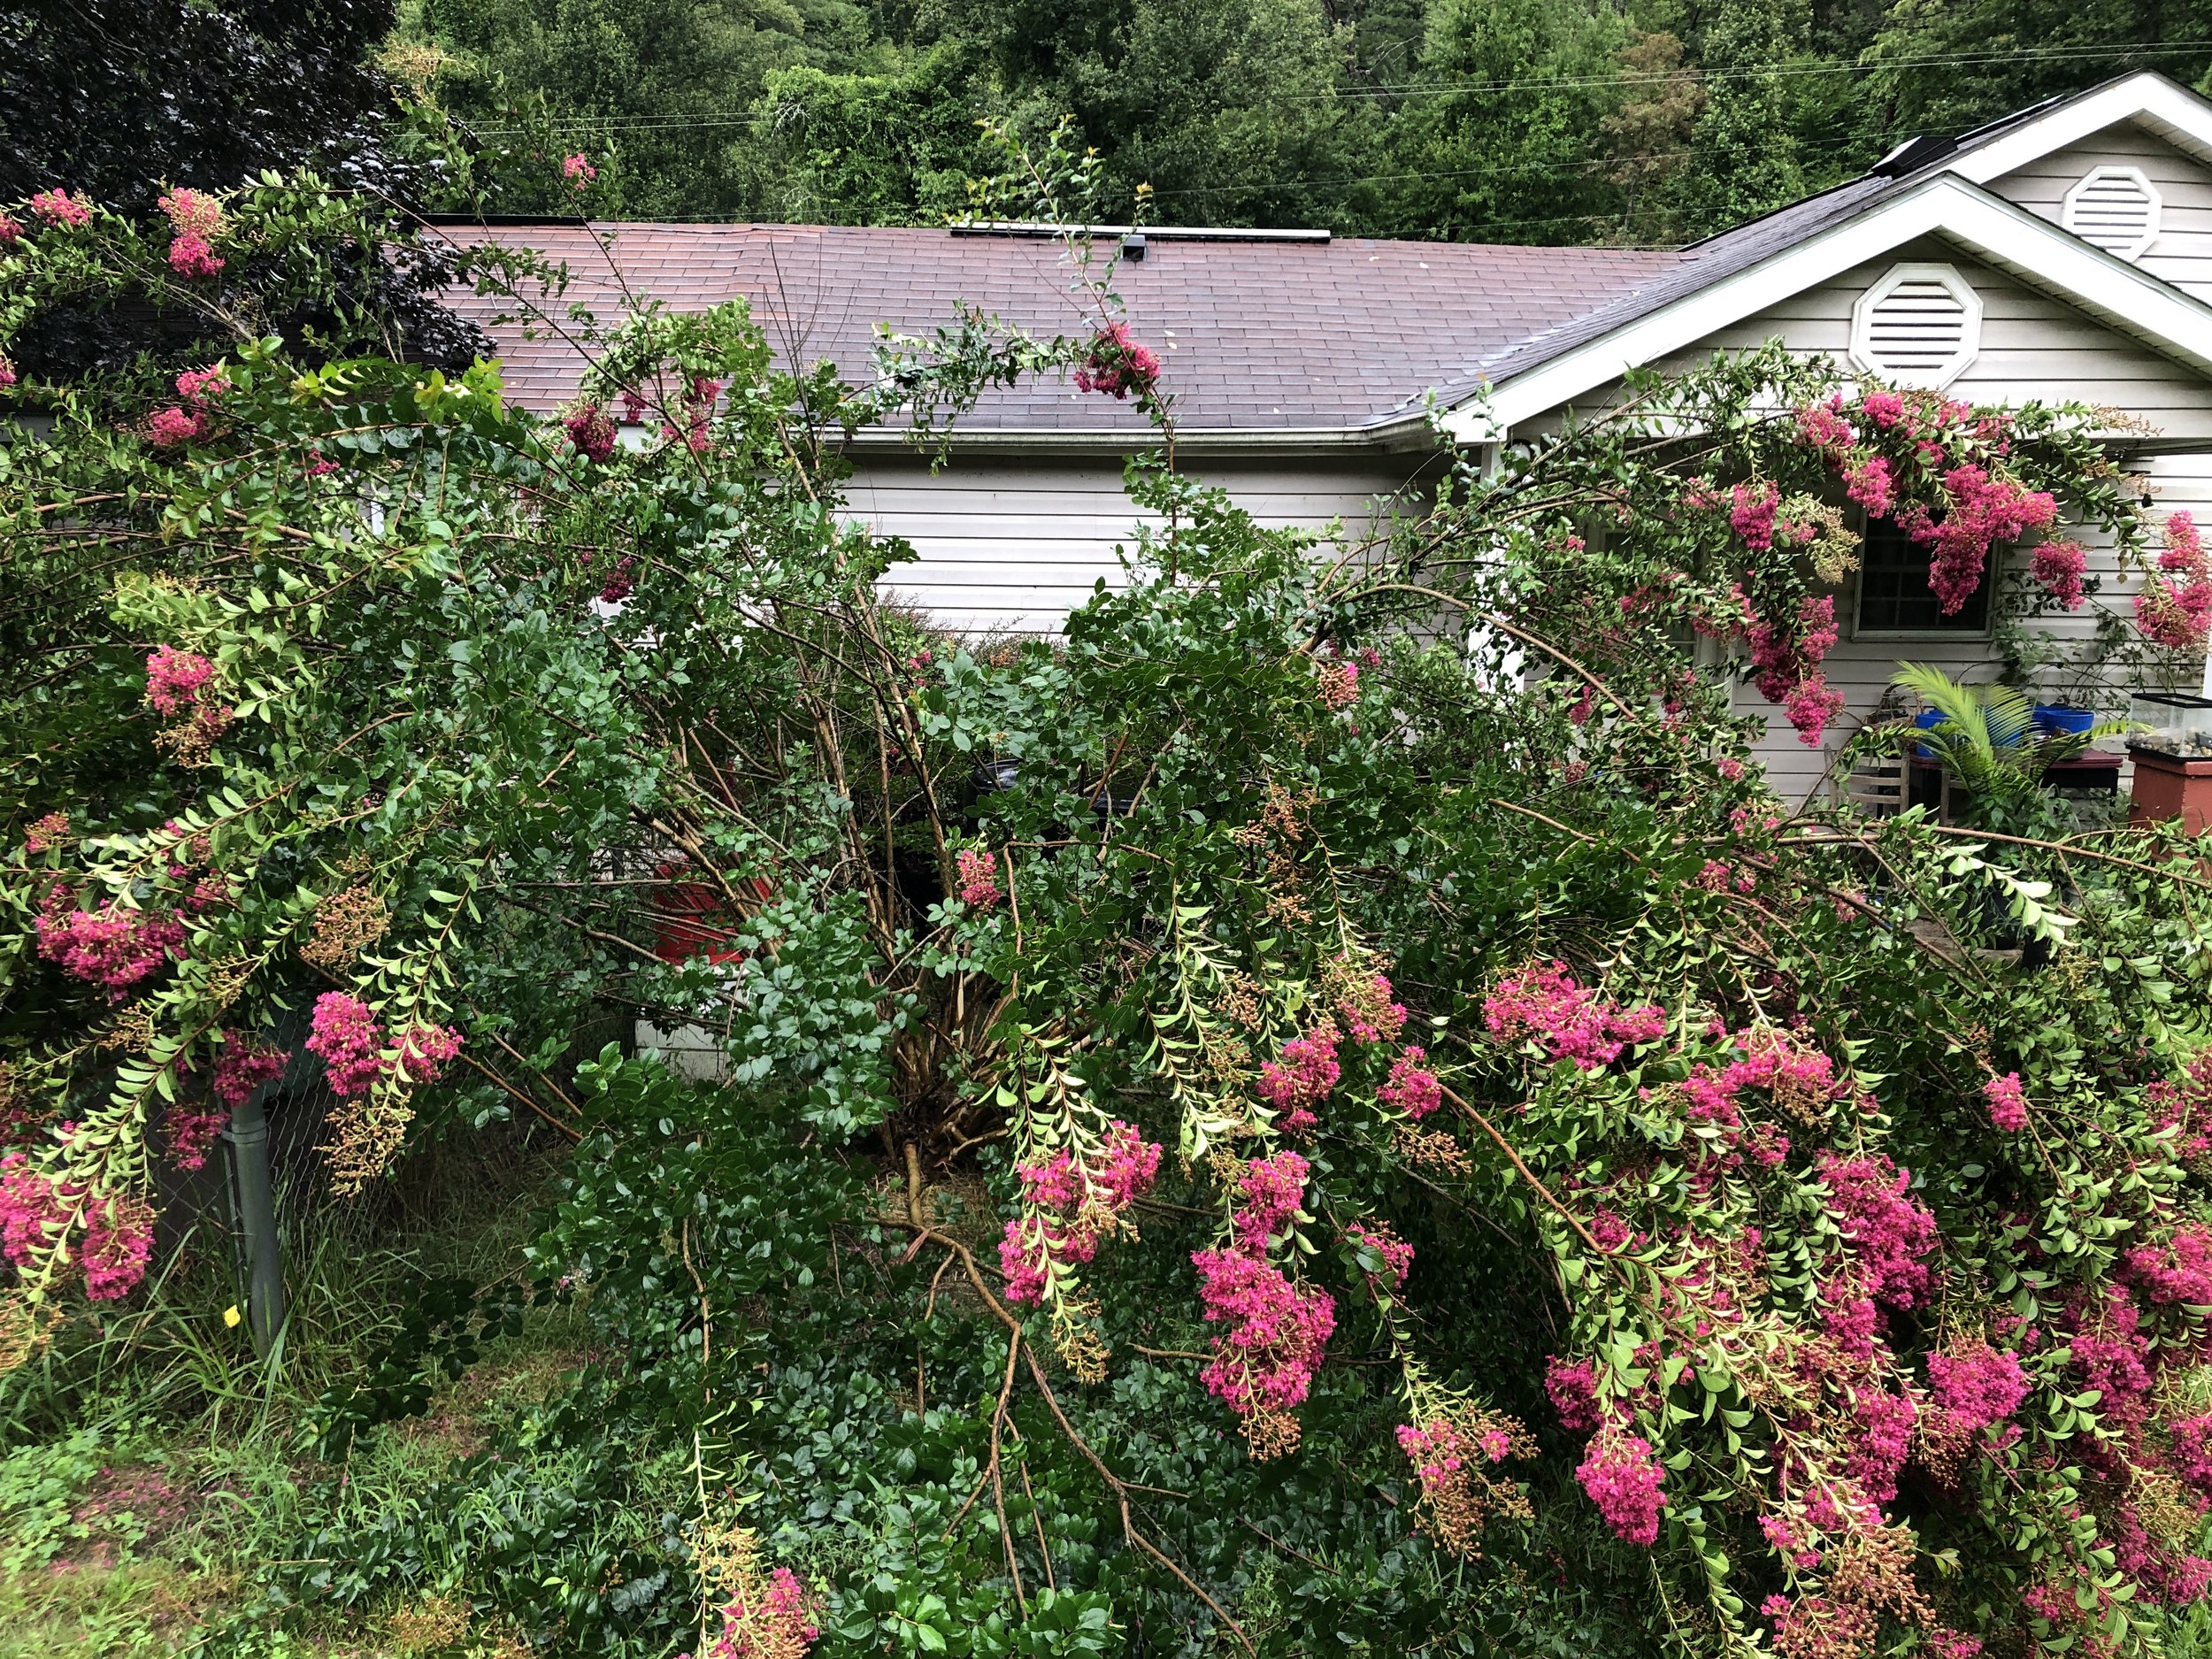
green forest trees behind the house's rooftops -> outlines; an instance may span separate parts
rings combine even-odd
[[[1668,243],[2130,69],[2203,0],[409,0],[387,62],[487,146],[462,201],[933,223],[975,122],[1073,113],[1155,219]],[[1108,192],[1113,199],[1113,192]]]

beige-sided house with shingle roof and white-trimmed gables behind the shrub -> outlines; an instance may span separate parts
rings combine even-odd
[[[878,321],[927,334],[956,299],[1040,334],[1095,325],[1057,243],[1022,228],[493,234],[564,259],[571,299],[602,314],[624,285],[675,307],[743,294],[787,358],[827,356],[849,378],[867,376]],[[1183,462],[1272,524],[1356,531],[1418,504],[1442,465],[1431,396],[1451,442],[1511,442],[1601,407],[1630,367],[1770,338],[1966,400],[2110,407],[2104,436],[2146,498],[2212,509],[2212,104],[2161,75],[1911,139],[1860,179],[1681,250],[1146,230],[1115,285],[1181,394]],[[524,403],[573,396],[571,345],[493,332]],[[1117,575],[1133,522],[1121,462],[1148,436],[1133,409],[1068,385],[993,392],[936,473],[896,431],[860,434],[852,509],[914,544],[918,560],[885,580],[949,624],[1048,630]],[[2090,560],[2124,602],[2115,562]],[[1874,710],[1898,657],[1991,661],[1986,608],[1936,615],[1924,566],[1876,535],[1838,595],[1827,677],[1851,717]],[[1787,728],[1763,759],[1785,796],[1825,781],[1827,752]]]

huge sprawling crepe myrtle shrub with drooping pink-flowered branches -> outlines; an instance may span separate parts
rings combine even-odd
[[[690,1444],[703,1646],[1511,1646],[1564,1584],[1626,1646],[1958,1659],[2199,1599],[2203,849],[1790,814],[1728,703],[1829,719],[1849,500],[1944,593],[2170,542],[2090,411],[1756,352],[1354,544],[1179,471],[1164,376],[1126,580],[982,644],[878,599],[838,438],[1093,334],[854,394],[734,305],[577,327],[560,420],[243,341],[11,429],[15,1358],[296,1029],[341,1186],[438,1113],[580,1141],[533,1261]],[[728,1082],[562,1091],[591,1000]],[[847,1192],[841,1314],[772,1186]],[[717,1294],[719,1214],[790,1272]]]

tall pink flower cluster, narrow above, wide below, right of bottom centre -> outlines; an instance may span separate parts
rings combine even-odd
[[[1243,1203],[1230,1217],[1234,1241],[1190,1256],[1206,1321],[1228,1325],[1214,1336],[1201,1380],[1243,1418],[1303,1402],[1336,1332],[1336,1301],[1325,1290],[1298,1290],[1267,1261],[1276,1232],[1305,1201],[1305,1177],[1307,1164],[1296,1152],[1248,1164],[1239,1181]]]

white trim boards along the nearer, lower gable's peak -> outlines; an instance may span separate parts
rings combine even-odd
[[[1486,411],[1480,400],[1462,403],[1444,425],[1458,442],[1495,442],[1513,427],[1619,380],[1628,369],[1659,363],[1920,237],[1942,237],[2212,380],[2212,305],[2090,248],[2026,208],[1951,173],[1938,173],[1708,288],[1500,380]]]

